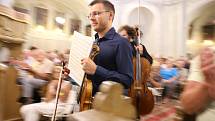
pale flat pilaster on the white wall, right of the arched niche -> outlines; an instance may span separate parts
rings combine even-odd
[[[186,8],[184,1],[163,4],[162,55],[178,58],[186,53]]]

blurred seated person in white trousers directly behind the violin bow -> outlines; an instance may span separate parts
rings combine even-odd
[[[53,80],[48,84],[47,93],[46,93],[44,102],[24,105],[21,107],[20,112],[24,121],[39,121],[40,115],[53,113],[55,108],[55,96],[56,96],[60,71],[61,71],[61,67],[56,66],[54,68]],[[65,81],[63,79],[58,104],[63,104],[67,102],[71,88],[72,87],[70,82]],[[65,111],[65,108],[66,108],[65,105],[58,105],[57,113],[63,113]]]

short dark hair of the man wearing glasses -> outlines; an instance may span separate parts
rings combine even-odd
[[[115,14],[114,5],[113,5],[110,1],[108,1],[108,0],[93,0],[93,1],[89,4],[89,6],[93,6],[93,5],[98,4],[98,3],[103,4],[106,10],[112,11],[112,12]]]

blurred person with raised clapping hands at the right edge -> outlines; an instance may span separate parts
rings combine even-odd
[[[205,48],[191,62],[188,83],[181,95],[183,109],[188,114],[197,114],[198,121],[213,121],[215,118],[215,54]]]

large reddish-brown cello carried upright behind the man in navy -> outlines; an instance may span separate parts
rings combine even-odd
[[[140,0],[139,0],[140,5]],[[140,6],[138,8],[138,22],[140,25]],[[140,29],[136,28],[136,46],[140,45]],[[143,50],[144,51],[144,50]],[[130,88],[130,97],[136,107],[137,118],[149,114],[154,108],[154,96],[148,89],[146,82],[150,76],[151,65],[149,61],[140,57],[140,52],[136,50],[136,57],[133,57],[134,81]]]

